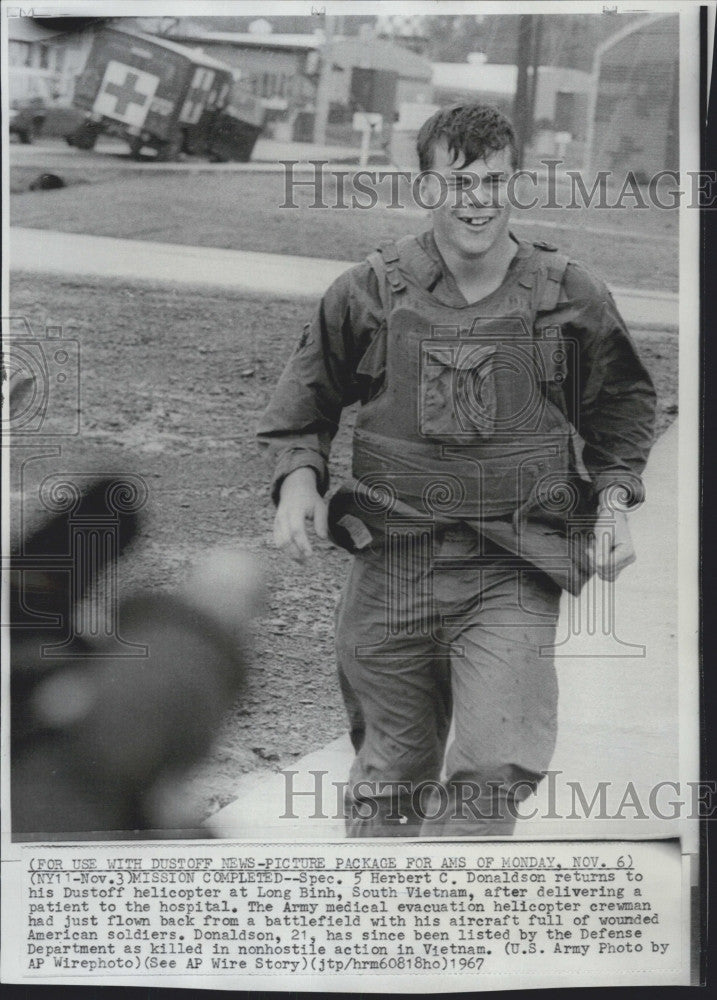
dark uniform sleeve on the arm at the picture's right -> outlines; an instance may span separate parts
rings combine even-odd
[[[575,358],[571,416],[584,441],[583,463],[596,492],[607,490],[628,509],[644,499],[655,388],[607,286],[571,264],[565,288],[563,335]]]

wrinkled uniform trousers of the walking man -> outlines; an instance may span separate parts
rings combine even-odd
[[[336,621],[348,836],[513,832],[555,747],[560,593],[464,524],[354,557]]]

